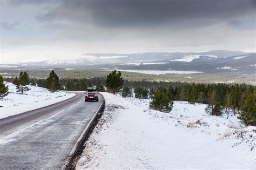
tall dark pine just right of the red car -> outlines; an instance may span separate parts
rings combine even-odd
[[[107,75],[106,79],[106,87],[109,89],[112,93],[116,93],[122,89],[122,86],[124,84],[124,79],[121,77],[122,73],[120,71],[112,71],[109,75]]]

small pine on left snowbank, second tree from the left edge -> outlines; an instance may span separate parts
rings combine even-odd
[[[29,74],[26,72],[19,73],[19,78],[15,77],[14,81],[12,81],[13,84],[16,85],[18,91],[21,91],[23,94],[23,91],[30,90],[26,85],[29,85]]]

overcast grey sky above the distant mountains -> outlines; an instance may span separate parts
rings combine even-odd
[[[2,63],[86,52],[255,51],[253,0],[2,1]]]

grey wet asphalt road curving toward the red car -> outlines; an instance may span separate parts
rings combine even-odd
[[[0,119],[1,169],[59,169],[100,104],[84,94]]]

